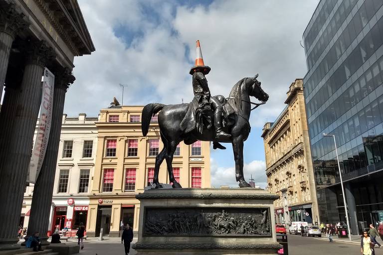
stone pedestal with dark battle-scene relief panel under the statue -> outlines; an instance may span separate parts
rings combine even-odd
[[[140,200],[138,255],[277,254],[273,201],[262,189],[158,189]]]

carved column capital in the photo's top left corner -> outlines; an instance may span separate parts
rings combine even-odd
[[[13,38],[18,32],[29,26],[24,13],[17,9],[16,4],[7,1],[0,3],[0,31],[5,32]]]

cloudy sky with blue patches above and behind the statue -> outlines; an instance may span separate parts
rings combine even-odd
[[[79,0],[96,51],[76,57],[75,83],[64,112],[97,116],[126,84],[124,105],[152,102],[178,104],[192,100],[195,41],[211,67],[206,76],[212,95],[228,96],[243,77],[259,73],[270,96],[255,110],[244,146],[248,180],[265,187],[265,158],[260,137],[266,121],[284,108],[291,82],[307,72],[303,31],[318,0]],[[255,99],[254,99],[255,100]],[[79,104],[79,102],[81,102]],[[229,144],[211,150],[212,185],[237,186]]]

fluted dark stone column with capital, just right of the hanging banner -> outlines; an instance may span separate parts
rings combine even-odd
[[[33,188],[33,198],[27,232],[27,236],[39,232],[42,245],[49,245],[46,233],[49,228],[49,214],[52,204],[53,184],[56,172],[58,145],[60,142],[65,92],[68,88],[68,84],[73,83],[74,81],[74,76],[71,75],[67,68],[54,72],[54,75],[53,110],[49,141],[40,173]]]

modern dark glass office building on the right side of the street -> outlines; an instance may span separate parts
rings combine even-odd
[[[383,221],[383,0],[321,0],[304,34],[318,208],[352,234]],[[332,137],[335,134],[340,169]]]

